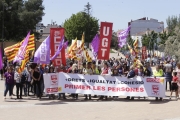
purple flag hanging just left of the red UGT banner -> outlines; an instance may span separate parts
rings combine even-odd
[[[96,34],[96,36],[93,38],[91,42],[91,49],[93,53],[93,60],[96,60],[96,57],[98,55],[98,49],[99,49],[99,36]]]

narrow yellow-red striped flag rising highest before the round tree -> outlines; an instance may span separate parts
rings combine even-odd
[[[72,58],[75,60],[79,60],[81,57],[79,56],[77,57],[76,54],[81,54],[83,50],[84,50],[84,33],[82,35],[81,45],[72,50]]]

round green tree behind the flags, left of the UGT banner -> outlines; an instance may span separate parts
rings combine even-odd
[[[86,34],[88,34],[88,18],[89,39],[86,37]],[[95,17],[88,15],[86,12],[78,12],[77,14],[72,14],[69,19],[65,20],[64,28],[65,37],[69,40],[69,43],[76,37],[81,40],[83,32],[85,32],[85,42],[91,42],[99,30],[99,24]]]

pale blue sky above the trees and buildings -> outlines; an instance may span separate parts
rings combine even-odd
[[[126,29],[131,19],[142,17],[163,21],[166,27],[169,15],[180,14],[180,0],[44,0],[42,22],[47,25],[53,20],[61,25],[72,14],[84,10],[87,2],[92,5],[92,16],[99,22],[112,22],[114,31]]]

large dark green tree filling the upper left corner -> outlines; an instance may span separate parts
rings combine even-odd
[[[43,0],[1,0],[0,23],[4,20],[4,40],[21,41],[31,30],[36,34],[36,24],[44,15]],[[4,6],[4,12],[3,12]],[[2,33],[2,27],[0,27]]]

